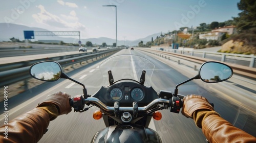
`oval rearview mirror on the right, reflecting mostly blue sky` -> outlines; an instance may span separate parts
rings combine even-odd
[[[222,82],[229,79],[232,75],[232,68],[220,62],[205,62],[199,70],[200,79],[207,83]]]

